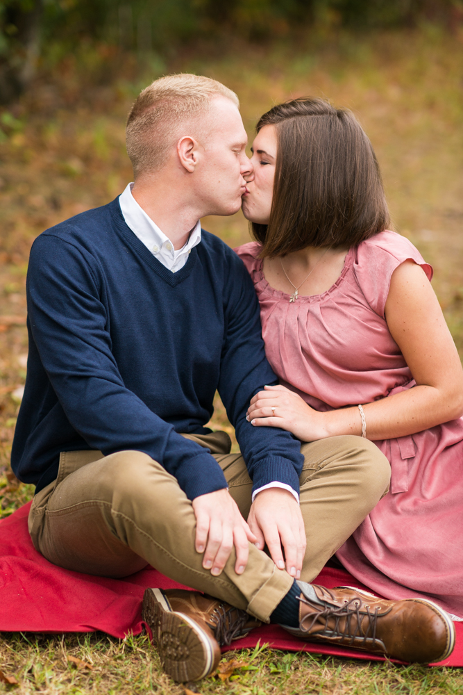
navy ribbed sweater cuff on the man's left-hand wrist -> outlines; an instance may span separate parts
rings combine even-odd
[[[217,461],[209,454],[202,453],[189,458],[178,466],[174,473],[180,488],[191,501],[201,495],[217,490],[228,489],[225,475]]]

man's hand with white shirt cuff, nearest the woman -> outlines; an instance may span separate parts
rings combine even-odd
[[[300,578],[307,540],[301,509],[292,494],[278,487],[262,490],[255,497],[248,523],[258,537],[255,545],[263,550],[267,543],[279,569],[285,569],[284,550],[287,573]]]

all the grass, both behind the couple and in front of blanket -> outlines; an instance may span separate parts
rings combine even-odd
[[[124,71],[115,76],[101,70],[98,79],[68,56],[20,104],[0,114],[1,516],[33,494],[9,470],[26,377],[28,250],[40,231],[108,202],[131,180],[124,119],[137,90],[165,70],[208,74],[235,89],[250,136],[263,111],[292,96],[324,95],[352,108],[378,154],[395,228],[435,266],[434,286],[463,356],[462,48],[461,36],[432,27],[366,38],[339,35],[326,45],[309,37],[296,48],[240,46],[219,57],[172,58],[167,66],[158,58],[137,63],[129,56]],[[203,226],[232,246],[249,239],[240,213],[204,220]],[[219,400],[212,425],[233,434]],[[459,669],[370,664],[268,648],[231,653],[225,661],[231,658],[247,666],[226,680],[215,676],[201,682],[203,694],[463,692]],[[143,635],[119,641],[101,634],[4,634],[0,669],[19,683],[3,682],[0,674],[0,692],[184,692],[162,673]]]

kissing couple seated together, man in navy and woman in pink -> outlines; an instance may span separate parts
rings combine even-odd
[[[261,623],[444,660],[463,616],[463,372],[362,127],[292,99],[249,159],[237,96],[180,74],[141,92],[126,144],[134,182],[31,250],[12,468],[36,485],[35,548],[192,587],[143,602],[178,681]],[[255,240],[233,251],[199,220],[240,206]],[[217,390],[239,454],[205,427]],[[385,598],[312,583],[328,561]]]

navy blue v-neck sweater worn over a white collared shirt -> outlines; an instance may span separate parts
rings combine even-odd
[[[206,434],[216,389],[236,428],[254,489],[298,491],[294,437],[245,419],[276,383],[258,302],[242,261],[203,231],[173,273],[124,221],[116,199],[35,240],[27,281],[29,357],[12,468],[36,491],[62,451],[146,452],[193,500],[226,487],[221,468],[180,432]]]

